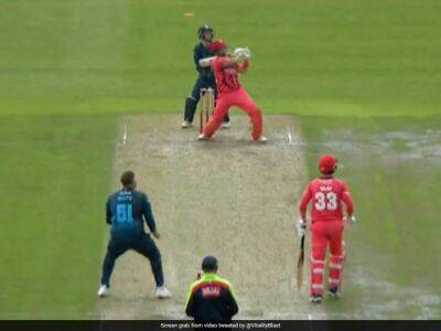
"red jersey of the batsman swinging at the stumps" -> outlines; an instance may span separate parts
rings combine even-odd
[[[240,88],[238,78],[239,67],[224,67],[223,63],[227,61],[228,56],[216,56],[213,62],[213,72],[216,79],[216,86],[219,94],[235,92]]]

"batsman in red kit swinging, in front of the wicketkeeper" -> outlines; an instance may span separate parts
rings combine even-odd
[[[245,110],[252,124],[251,141],[265,142],[262,136],[262,115],[247,92],[240,86],[238,74],[248,68],[249,50],[238,49],[234,56],[226,53],[227,46],[222,40],[213,41],[209,51],[215,54],[200,61],[202,67],[212,66],[216,79],[218,97],[213,116],[209,118],[198,140],[209,139],[223,122],[229,107],[236,106]]]

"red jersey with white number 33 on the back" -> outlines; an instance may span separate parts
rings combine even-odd
[[[347,215],[351,216],[354,212],[346,183],[335,178],[318,178],[308,184],[299,206],[303,220],[310,202],[312,202],[312,223],[342,221],[342,202],[346,206]]]

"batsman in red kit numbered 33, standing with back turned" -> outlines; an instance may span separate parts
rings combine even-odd
[[[312,180],[303,192],[300,202],[301,220],[298,222],[299,235],[304,235],[306,207],[311,209],[311,301],[322,302],[323,271],[326,265],[326,249],[330,247],[327,289],[332,298],[340,297],[345,252],[343,247],[343,204],[347,220],[355,223],[354,206],[344,181],[333,177],[336,160],[323,156],[319,160],[321,177]]]

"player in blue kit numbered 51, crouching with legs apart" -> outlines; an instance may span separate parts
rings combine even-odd
[[[146,221],[150,233],[157,239],[160,237],[150,202],[146,193],[135,190],[137,182],[132,171],[122,173],[121,184],[122,189],[111,194],[106,203],[106,222],[110,225],[110,241],[103,263],[98,296],[108,295],[115,260],[127,250],[133,249],[150,260],[157,284],[157,297],[169,298],[171,293],[164,286],[161,254],[150,234],[144,232]]]

